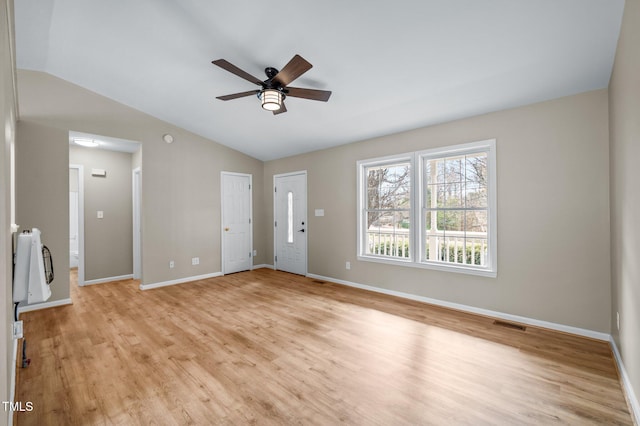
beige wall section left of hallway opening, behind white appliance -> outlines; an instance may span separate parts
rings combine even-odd
[[[49,247],[55,278],[49,301],[69,298],[69,136],[18,122],[16,133],[16,223],[38,228]]]

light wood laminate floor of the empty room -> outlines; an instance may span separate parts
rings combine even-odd
[[[71,294],[21,315],[20,426],[632,424],[606,342],[268,269]]]

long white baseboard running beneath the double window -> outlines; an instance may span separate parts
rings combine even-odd
[[[460,303],[453,303],[453,302],[447,302],[447,301],[444,301],[444,300],[432,299],[430,297],[418,296],[418,295],[411,294],[411,293],[403,293],[401,291],[388,290],[388,289],[385,289],[385,288],[373,287],[373,286],[365,285],[365,284],[358,284],[358,283],[354,283],[354,282],[351,282],[351,281],[338,280],[338,279],[331,278],[331,277],[324,277],[322,275],[307,274],[307,276],[310,277],[310,278],[316,278],[316,279],[321,279],[321,280],[325,280],[325,281],[332,281],[332,282],[335,282],[335,283],[338,283],[338,284],[343,284],[343,285],[346,285],[346,286],[349,286],[349,287],[355,287],[355,288],[360,288],[360,289],[363,289],[363,290],[369,290],[369,291],[373,291],[373,292],[376,292],[376,293],[388,294],[390,296],[397,296],[397,297],[402,297],[404,299],[416,300],[418,302],[429,303],[431,305],[437,305],[437,306],[442,306],[442,307],[445,307],[445,308],[456,309],[458,311],[464,311],[464,312],[469,312],[469,313],[473,313],[473,314],[484,315],[484,316],[493,317],[493,318],[499,318],[499,319],[512,321],[512,322],[518,322],[518,323],[521,323],[521,324],[531,325],[531,326],[534,326],[534,327],[548,328],[548,329],[551,329],[551,330],[562,331],[564,333],[569,333],[569,334],[576,334],[578,336],[589,337],[589,338],[596,339],[596,340],[603,340],[603,341],[608,342],[609,338],[610,338],[608,333],[601,333],[599,331],[587,330],[587,329],[584,329],[584,328],[572,327],[572,326],[568,326],[568,325],[564,325],[564,324],[557,324],[557,323],[548,322],[548,321],[541,321],[541,320],[537,320],[537,319],[533,319],[533,318],[522,317],[522,316],[519,316],[519,315],[506,314],[504,312],[498,312],[498,311],[491,311],[491,310],[488,310],[488,309],[476,308],[475,306],[462,305]]]

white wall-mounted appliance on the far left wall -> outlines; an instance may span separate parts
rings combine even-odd
[[[33,228],[18,235],[15,262],[13,302],[32,304],[49,299],[53,264],[49,249],[40,241],[39,229]]]

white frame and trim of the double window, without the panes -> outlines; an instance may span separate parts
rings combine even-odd
[[[423,260],[425,254],[424,235],[421,230],[426,229],[424,215],[422,214],[423,194],[424,194],[424,159],[442,158],[452,155],[473,154],[479,152],[487,153],[487,178],[488,178],[488,198],[487,210],[489,231],[488,253],[485,266],[454,264],[444,262],[434,262]],[[383,166],[385,164],[393,164],[396,162],[409,162],[411,167],[411,237],[409,244],[409,258],[392,258],[389,256],[380,256],[366,253],[367,233],[366,226],[366,176],[365,169],[367,167]],[[498,233],[497,233],[497,177],[496,177],[496,140],[489,139],[466,144],[439,147],[424,151],[405,153],[393,156],[378,157],[368,160],[360,160],[356,163],[357,172],[357,191],[358,191],[358,244],[357,258],[358,260],[367,262],[387,263],[392,265],[402,265],[425,269],[434,269],[439,271],[460,272],[464,274],[479,275],[486,277],[496,277],[498,271]]]

